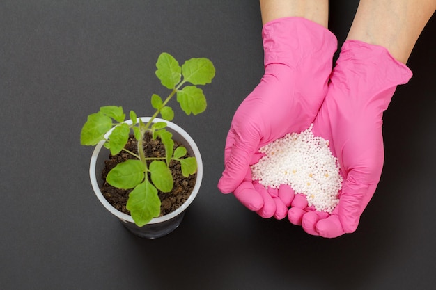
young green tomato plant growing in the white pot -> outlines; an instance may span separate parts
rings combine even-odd
[[[179,146],[173,149],[171,132],[167,131],[166,122],[153,122],[158,115],[171,121],[173,109],[168,106],[176,96],[182,111],[187,115],[197,115],[205,111],[206,99],[198,85],[211,83],[215,76],[215,67],[208,58],[191,58],[180,66],[173,56],[167,53],[159,55],[156,63],[156,76],[163,86],[171,90],[166,99],[159,95],[151,96],[151,106],[155,113],[147,123],[137,118],[137,113],[130,111],[130,122],[125,122],[125,113],[120,106],[103,106],[100,111],[88,115],[88,120],[81,129],[81,145],[97,145],[104,140],[112,155],[122,150],[132,154],[136,159],[129,159],[113,168],[107,175],[107,182],[116,188],[133,188],[127,200],[127,209],[138,226],[146,225],[160,214],[160,200],[157,190],[170,192],[173,177],[169,170],[171,160],[180,162],[182,175],[188,177],[197,170],[195,157],[185,157],[187,150]],[[109,136],[107,133],[111,131]],[[137,152],[125,149],[130,133],[137,139]],[[143,150],[143,138],[147,132],[153,138],[160,138],[166,154],[162,158],[146,156]]]

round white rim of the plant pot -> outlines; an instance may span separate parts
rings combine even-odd
[[[148,122],[150,120],[150,117],[141,117],[138,119],[141,119],[142,122]],[[196,198],[196,195],[201,186],[201,181],[203,179],[203,161],[201,159],[200,151],[198,150],[198,147],[194,142],[194,139],[192,139],[192,137],[189,136],[189,134],[187,134],[187,132],[184,129],[179,127],[177,124],[174,124],[173,122],[163,120],[161,118],[155,118],[153,122],[166,122],[167,127],[173,129],[174,131],[177,131],[178,134],[180,134],[182,138],[184,138],[187,141],[189,147],[191,147],[192,151],[194,152],[194,156],[196,157],[197,172],[196,172],[196,182],[195,182],[194,189],[192,190],[191,195],[189,195],[189,198],[182,204],[182,206],[176,209],[175,211],[172,211],[170,214],[166,214],[165,216],[160,216],[158,218],[153,218],[152,220],[150,220],[150,222],[148,222],[147,225],[162,223],[166,220],[171,220],[171,218],[174,218],[179,214],[182,214],[182,212],[185,211],[187,207],[189,207],[189,204],[191,204],[194,201],[194,198]],[[124,123],[132,124],[132,120],[127,120]],[[104,135],[104,137],[107,138],[107,136],[109,136],[112,130],[113,129],[108,131],[107,134]],[[89,164],[89,177],[91,179],[91,185],[93,187],[93,191],[95,195],[97,195],[98,200],[100,200],[103,206],[108,211],[110,211],[111,214],[114,214],[114,216],[120,218],[120,220],[124,220],[125,222],[134,223],[132,216],[128,214],[124,214],[123,212],[118,211],[118,209],[112,207],[112,205],[106,200],[106,198],[104,198],[102,192],[100,191],[100,186],[98,185],[98,181],[96,179],[95,166],[97,164],[98,154],[100,153],[100,150],[102,149],[103,145],[104,145],[104,140],[100,141],[100,143],[98,143],[95,146],[93,154],[91,156],[91,162]]]

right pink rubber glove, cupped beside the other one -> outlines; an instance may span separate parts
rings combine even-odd
[[[309,234],[327,238],[354,232],[380,181],[384,161],[382,115],[396,86],[412,72],[385,49],[356,40],[346,41],[331,76],[325,102],[313,124],[313,134],[330,142],[341,167],[340,201],[332,215],[304,208],[298,195],[288,211],[291,223]]]

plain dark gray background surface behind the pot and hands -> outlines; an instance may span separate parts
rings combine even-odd
[[[339,45],[358,1],[332,1]],[[263,74],[258,1],[0,3],[0,289],[433,289],[436,19],[416,44],[410,82],[384,114],[382,181],[355,234],[309,236],[222,195],[231,117]],[[139,239],[98,202],[88,179],[89,113],[141,115],[164,95],[155,61],[208,57],[208,110],[175,121],[196,140],[205,175],[182,225]]]

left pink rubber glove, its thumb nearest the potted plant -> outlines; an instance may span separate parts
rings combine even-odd
[[[319,24],[285,17],[265,24],[263,47],[265,74],[233,117],[218,188],[264,218],[284,218],[293,192],[252,182],[249,165],[260,158],[260,147],[313,122],[327,93],[337,41]]]

